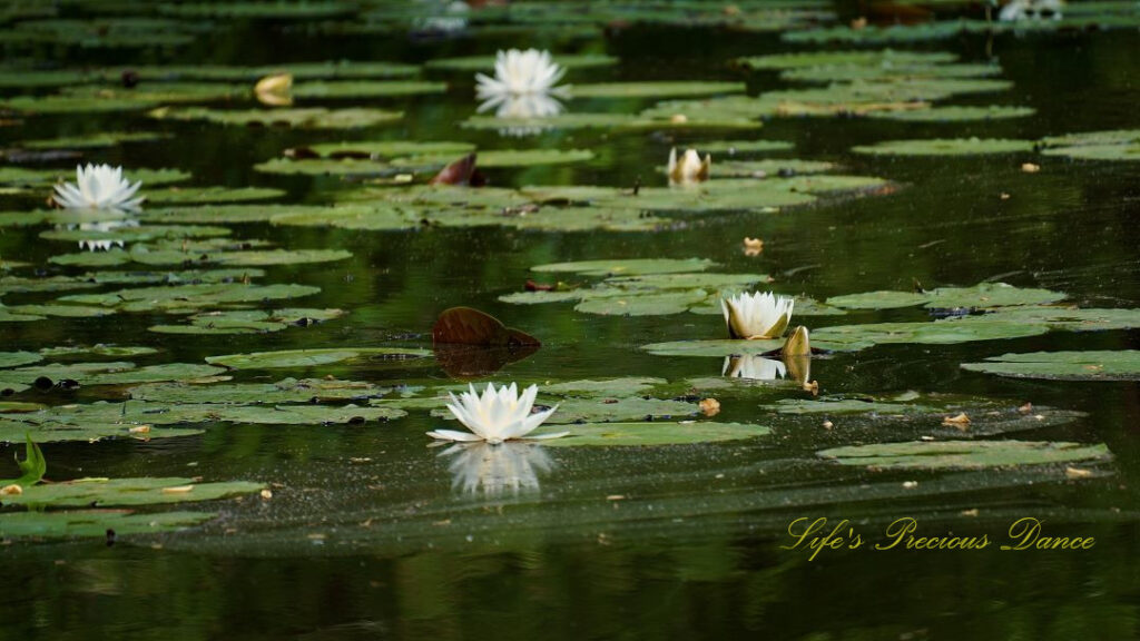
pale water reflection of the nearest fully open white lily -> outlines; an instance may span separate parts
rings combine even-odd
[[[527,443],[457,443],[440,456],[454,456],[448,464],[451,487],[462,487],[469,494],[477,494],[481,487],[490,496],[538,489],[538,472],[548,472],[553,466],[540,446]]]

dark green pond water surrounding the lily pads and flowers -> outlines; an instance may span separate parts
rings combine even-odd
[[[858,15],[840,6],[840,16]],[[83,15],[82,9],[76,15]],[[594,35],[532,32],[418,38],[400,32],[328,35],[298,22],[237,22],[173,48],[89,48],[8,42],[9,58],[116,71],[147,64],[285,65],[302,60],[426,60],[539,47],[604,54],[613,66],[571,70],[575,84],[603,81],[726,80],[750,96],[788,89],[777,72],[744,72],[740,56],[795,47],[773,33],[718,27],[630,25]],[[780,212],[675,213],[684,225],[656,232],[556,232],[511,227],[353,230],[264,222],[221,224],[235,238],[290,249],[343,249],[348,260],[267,267],[261,283],[320,287],[291,306],[340,308],[341,318],[250,335],[170,335],[161,313],[99,318],[49,317],[0,324],[3,351],[116,343],[158,349],[115,358],[139,365],[202,363],[214,355],[332,347],[431,348],[440,311],[472,306],[543,341],[494,381],[573,381],[656,376],[717,378],[720,357],[667,357],[648,343],[724,338],[717,315],[601,316],[572,303],[508,305],[499,297],[528,278],[593,283],[576,274],[536,274],[536,265],[632,258],[705,258],[722,273],[760,273],[771,287],[816,301],[874,290],[972,286],[993,281],[1064,292],[1082,308],[1140,307],[1140,163],[1074,161],[1034,152],[976,156],[872,156],[856,145],[891,139],[1012,138],[1138,127],[1137,30],[959,35],[907,48],[948,51],[962,62],[1000,60],[1012,88],[945,100],[1021,105],[1027,117],[906,123],[861,117],[772,117],[755,131],[559,130],[526,138],[459,127],[475,108],[473,73],[423,72],[445,94],[339,100],[406,112],[386,125],[349,130],[223,127],[155,121],[144,112],[21,114],[0,128],[0,147],[100,131],[162,131],[161,143],[88,151],[83,159],[137,168],[177,168],[187,185],[278,187],[275,203],[325,203],[358,190],[336,177],[275,176],[256,163],[290,147],[341,140],[469,140],[480,149],[585,148],[584,163],[491,168],[494,186],[663,185],[658,167],[674,145],[771,139],[793,144],[772,157],[829,161],[845,175],[874,176],[889,189],[826,197]],[[896,44],[897,46],[897,44]],[[991,58],[992,57],[992,58]],[[146,81],[144,81],[145,84]],[[5,96],[48,89],[5,89]],[[569,112],[636,113],[657,99],[572,100]],[[317,103],[320,104],[320,103]],[[939,103],[942,104],[942,103]],[[225,107],[225,105],[221,105]],[[246,104],[252,108],[255,104]],[[243,107],[244,108],[244,107]],[[764,156],[768,157],[768,156]],[[715,155],[714,170],[722,160]],[[54,168],[62,175],[75,161]],[[1023,163],[1041,165],[1023,171]],[[15,167],[7,163],[5,167]],[[22,165],[23,167],[23,165]],[[418,176],[417,180],[426,177]],[[396,187],[393,187],[396,188]],[[147,187],[144,186],[144,193]],[[1008,197],[1003,197],[1005,194]],[[0,196],[5,211],[42,208],[47,189]],[[146,205],[147,210],[152,205]],[[154,205],[155,208],[157,205]],[[0,257],[30,263],[27,277],[96,271],[50,257],[74,243],[46,241],[51,225],[0,227]],[[760,237],[759,255],[742,238]],[[41,271],[36,273],[35,269]],[[112,267],[111,269],[129,269]],[[172,269],[177,269],[172,268]],[[114,291],[119,286],[96,292]],[[87,290],[68,293],[88,293]],[[7,293],[6,306],[62,295]],[[271,305],[271,303],[270,303]],[[262,306],[267,309],[270,305]],[[793,325],[929,322],[920,307],[798,316]],[[206,424],[169,439],[48,443],[50,481],[83,477],[202,477],[267,484],[256,494],[138,508],[217,512],[204,525],[154,535],[56,538],[13,536],[0,545],[6,597],[0,639],[1126,639],[1140,633],[1140,395],[1135,382],[1008,379],[966,371],[1007,352],[1138,349],[1135,330],[1052,331],[955,344],[880,344],[813,358],[821,397],[879,399],[910,392],[984,397],[1084,413],[1041,429],[980,439],[1105,444],[1096,463],[879,470],[821,460],[838,446],[918,441],[925,422],[833,413],[789,415],[781,399],[809,400],[795,386],[756,386],[717,397],[719,422],[766,425],[758,438],[660,447],[536,447],[441,454],[424,432],[443,424],[424,412],[390,422],[331,425]],[[446,384],[434,362],[365,362],[311,368],[238,370],[235,382],[286,376],[385,384]],[[2,379],[2,376],[0,376]],[[123,387],[34,389],[8,400],[44,405],[122,400]],[[903,396],[901,396],[903,395]],[[542,392],[540,392],[542,398]],[[948,415],[948,414],[946,414]],[[832,423],[824,428],[824,421]],[[977,421],[977,416],[975,416]],[[939,432],[940,433],[940,432]],[[944,437],[939,436],[938,439]],[[0,461],[23,445],[0,446]],[[488,463],[489,457],[490,463]],[[498,457],[498,459],[496,459]],[[488,464],[523,482],[496,494],[479,487]],[[15,469],[0,466],[0,477]],[[13,468],[9,470],[9,468]],[[1085,478],[1085,469],[1092,473]],[[473,480],[474,479],[474,480]],[[472,482],[473,492],[465,488]],[[484,478],[482,482],[488,482]],[[0,519],[24,508],[6,506]],[[789,550],[796,519],[829,520],[826,532],[858,533],[860,549]],[[1088,550],[1002,551],[1011,524],[1044,522],[1048,536],[1094,537]],[[893,521],[913,518],[917,535],[982,537],[984,550],[874,550]],[[2,532],[2,526],[0,526]]]

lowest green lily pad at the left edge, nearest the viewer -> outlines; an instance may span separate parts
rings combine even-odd
[[[212,512],[160,512],[136,514],[128,510],[83,510],[78,512],[16,512],[0,514],[3,538],[80,538],[177,532],[202,525]]]

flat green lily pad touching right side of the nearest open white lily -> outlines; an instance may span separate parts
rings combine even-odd
[[[744,423],[586,423],[581,425],[560,427],[557,430],[538,430],[531,436],[554,431],[567,431],[562,438],[543,440],[543,447],[652,447],[665,445],[694,445],[740,440],[767,436],[771,430],[764,425]]]

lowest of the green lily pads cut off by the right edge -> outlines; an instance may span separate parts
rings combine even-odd
[[[1036,351],[1003,354],[985,363],[963,363],[963,370],[1013,379],[1057,381],[1140,380],[1140,351]]]

